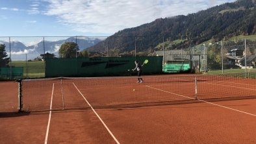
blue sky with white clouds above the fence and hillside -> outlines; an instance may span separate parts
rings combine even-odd
[[[0,0],[0,36],[110,36],[236,0]]]

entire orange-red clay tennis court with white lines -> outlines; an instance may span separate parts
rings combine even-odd
[[[136,77],[23,80],[24,112],[1,114],[0,138],[5,143],[255,143],[256,80],[254,73],[243,75],[146,76],[141,84]]]

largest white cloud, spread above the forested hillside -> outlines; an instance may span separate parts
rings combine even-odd
[[[157,18],[186,15],[235,0],[45,0],[44,13],[78,32],[114,33]]]

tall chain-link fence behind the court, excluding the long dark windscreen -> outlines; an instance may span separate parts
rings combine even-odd
[[[256,38],[253,36],[237,36],[223,42],[209,41],[177,49],[175,45],[183,41],[171,42],[162,36],[2,36],[0,44],[6,56],[0,57],[0,77],[45,77],[45,58],[67,56],[63,53],[69,53],[71,58],[163,56],[164,73],[230,73],[255,68]],[[75,43],[75,49],[60,53],[65,43]]]

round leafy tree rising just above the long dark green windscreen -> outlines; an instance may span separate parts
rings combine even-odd
[[[65,42],[60,46],[58,54],[60,58],[75,58],[77,51],[79,51],[77,43]]]

